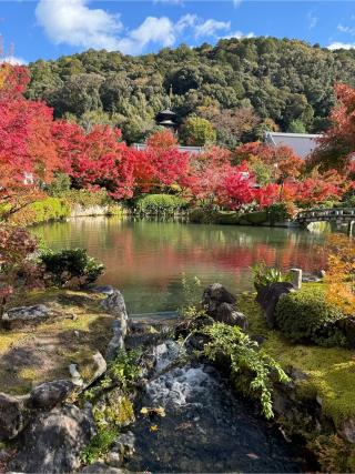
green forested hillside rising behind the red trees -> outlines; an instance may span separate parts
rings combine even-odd
[[[128,142],[140,141],[172,95],[182,122],[191,114],[204,118],[219,143],[233,148],[265,129],[323,130],[334,83],[355,85],[355,52],[296,40],[231,39],[141,57],[89,50],[39,60],[30,71],[28,98],[44,99],[55,117],[87,128],[112,123]]]

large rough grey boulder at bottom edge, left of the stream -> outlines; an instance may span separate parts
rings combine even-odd
[[[80,466],[81,450],[95,434],[92,416],[74,405],[40,414],[23,432],[10,468],[23,473],[70,473]]]

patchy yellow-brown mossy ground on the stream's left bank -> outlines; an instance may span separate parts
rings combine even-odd
[[[84,381],[97,370],[92,359],[112,337],[113,316],[100,309],[103,296],[80,291],[29,293],[14,305],[47,304],[54,316],[12,331],[0,330],[0,392],[28,393],[33,385],[69,379],[77,364]]]

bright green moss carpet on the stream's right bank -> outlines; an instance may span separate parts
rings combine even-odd
[[[304,291],[312,291],[314,288],[315,285],[305,285]],[[273,356],[283,369],[293,367],[307,375],[305,381],[298,382],[300,395],[317,395],[324,414],[335,425],[344,418],[355,416],[355,351],[292,343],[280,331],[267,327],[255,295],[241,294],[239,307],[248,316],[251,334],[266,336],[263,351]]]

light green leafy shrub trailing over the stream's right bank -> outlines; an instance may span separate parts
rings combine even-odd
[[[205,334],[211,337],[204,346],[205,355],[211,361],[216,361],[221,354],[227,356],[237,387],[258,397],[265,417],[273,417],[272,377],[276,375],[278,382],[288,382],[281,366],[237,326],[215,323],[205,329]]]

